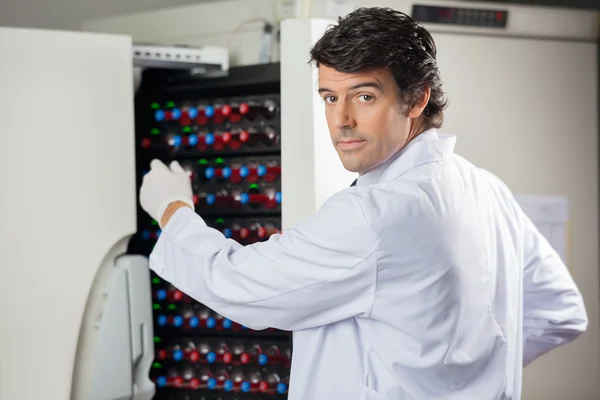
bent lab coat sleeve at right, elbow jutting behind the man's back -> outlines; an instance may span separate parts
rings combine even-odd
[[[587,329],[583,298],[567,267],[521,211],[524,245],[523,366]]]

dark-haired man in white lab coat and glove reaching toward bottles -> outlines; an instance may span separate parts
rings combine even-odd
[[[585,331],[587,314],[508,188],[438,132],[432,37],[362,8],[311,56],[356,185],[243,247],[190,208],[179,164],[154,161],[140,194],[164,226],[151,268],[227,318],[294,331],[290,400],[519,399],[523,366]]]

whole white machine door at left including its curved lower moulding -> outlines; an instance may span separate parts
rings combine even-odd
[[[0,399],[149,400],[131,38],[0,28]],[[43,62],[40,62],[43,60]]]

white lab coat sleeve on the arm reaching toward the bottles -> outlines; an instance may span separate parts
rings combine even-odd
[[[370,314],[375,248],[359,197],[346,189],[306,222],[248,246],[180,209],[160,235],[150,267],[232,321],[301,330]]]

